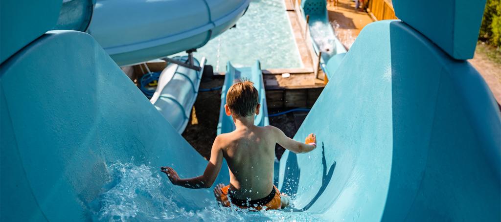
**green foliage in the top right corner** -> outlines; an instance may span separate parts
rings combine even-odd
[[[501,0],[487,0],[478,39],[501,47]]]

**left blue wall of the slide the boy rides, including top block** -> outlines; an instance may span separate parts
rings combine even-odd
[[[2,1],[2,21],[8,11],[17,15],[29,10],[16,3]],[[27,6],[39,6],[39,1],[33,3]],[[18,32],[12,35],[25,38],[9,39],[0,47],[5,56],[17,50],[0,67],[0,220],[99,219],[99,200],[113,182],[109,166],[117,161],[154,169],[168,163],[178,167],[181,176],[203,172],[207,161],[92,36],[49,31],[56,25],[60,3],[42,5],[45,10],[27,15],[41,23],[18,21]],[[44,23],[47,12],[56,16]],[[8,28],[2,27],[2,33]],[[205,207],[199,198],[213,198],[209,190],[165,182],[162,191],[185,210]]]

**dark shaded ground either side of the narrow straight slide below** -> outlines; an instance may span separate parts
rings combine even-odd
[[[209,89],[222,86],[223,78],[214,78],[210,81],[201,82],[200,89]],[[192,124],[192,117],[182,133],[182,136],[188,143],[195,148],[205,159],[210,158],[210,148],[216,138],[217,122],[219,120],[219,107],[221,104],[221,90],[200,92],[195,101],[195,113],[198,124]],[[269,114],[285,110],[269,110]],[[288,113],[281,116],[270,117],[270,125],[276,126],[284,133],[293,137],[298,131],[299,126],[306,117],[307,112]],[[280,159],[284,148],[277,145],[277,157]]]

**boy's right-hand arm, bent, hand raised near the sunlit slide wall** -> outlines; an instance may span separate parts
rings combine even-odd
[[[287,137],[279,128],[274,126],[270,127],[272,128],[273,135],[277,139],[277,143],[292,152],[307,153],[317,148],[317,137],[313,133],[306,137],[305,143],[302,143]]]

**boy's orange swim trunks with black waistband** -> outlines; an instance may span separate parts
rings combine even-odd
[[[221,194],[221,203],[223,206],[229,207],[231,203],[233,205],[236,205],[242,209],[250,209],[250,210],[262,210],[265,206],[266,209],[280,209],[282,206],[282,202],[280,199],[280,191],[279,189],[274,185],[272,192],[268,195],[265,196],[264,198],[261,199],[256,199],[256,200],[241,200],[241,199],[236,199],[231,197],[231,194],[228,195],[228,189],[229,185],[221,188],[222,194]],[[231,203],[228,200],[231,199]]]

